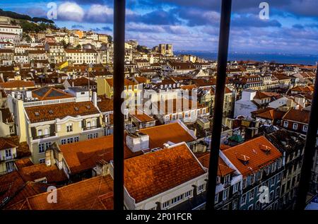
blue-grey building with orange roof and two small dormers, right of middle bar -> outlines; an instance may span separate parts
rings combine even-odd
[[[222,153],[242,175],[242,194],[238,208],[278,209],[283,154],[264,136],[227,148]]]

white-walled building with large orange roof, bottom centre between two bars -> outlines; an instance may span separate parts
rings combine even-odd
[[[126,159],[124,169],[127,209],[173,209],[206,191],[207,169],[184,142]]]

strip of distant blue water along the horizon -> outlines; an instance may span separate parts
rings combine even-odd
[[[174,54],[192,54],[206,60],[216,60],[218,54],[216,52],[200,52],[200,51],[174,51]],[[255,53],[229,53],[229,61],[275,61],[284,64],[308,64],[315,65],[318,61],[318,54],[255,54]]]

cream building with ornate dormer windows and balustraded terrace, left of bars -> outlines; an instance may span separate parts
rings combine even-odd
[[[66,144],[104,135],[97,105],[82,92],[86,99],[49,87],[28,92],[20,100],[11,96],[9,108],[15,114],[17,133],[20,141],[28,142],[33,163],[45,163],[45,150],[54,142]]]

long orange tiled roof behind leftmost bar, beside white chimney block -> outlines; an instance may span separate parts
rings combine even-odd
[[[194,141],[194,137],[178,123],[153,126],[141,129],[140,131],[148,134],[149,148],[161,148],[167,141],[173,143]],[[103,159],[109,162],[113,159],[113,136],[102,136],[100,138],[65,144],[59,146],[59,148],[64,155],[66,163],[69,165],[71,173],[76,174],[92,169],[98,160]],[[141,154],[142,152],[132,153],[124,142],[125,158]]]

